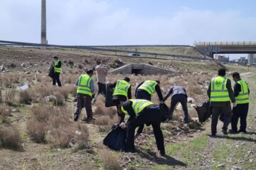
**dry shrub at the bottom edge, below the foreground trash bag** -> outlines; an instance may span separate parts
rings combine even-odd
[[[112,152],[110,152],[108,149],[102,149],[100,152],[100,159],[104,169],[121,169],[119,163],[117,162],[117,157],[115,157],[114,154],[112,154]]]

